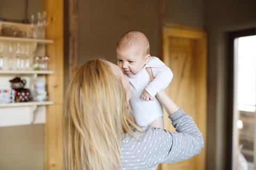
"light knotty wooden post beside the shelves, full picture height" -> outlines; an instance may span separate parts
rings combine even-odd
[[[45,169],[62,169],[62,104],[63,104],[63,0],[45,0],[48,27],[46,38],[53,44],[46,46],[51,57],[47,76],[49,100],[54,104],[46,107]]]

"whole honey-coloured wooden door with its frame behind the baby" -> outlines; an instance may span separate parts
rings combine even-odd
[[[163,30],[163,62],[173,72],[167,94],[195,120],[206,143],[206,35],[202,29],[169,24]],[[165,129],[175,131],[165,113]],[[206,145],[205,145],[206,146]],[[162,170],[205,169],[201,154],[182,162],[163,164]]]

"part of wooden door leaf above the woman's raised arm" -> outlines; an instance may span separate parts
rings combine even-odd
[[[179,38],[170,38],[170,41]],[[194,40],[180,38],[176,45],[169,48],[169,63],[173,71],[173,80],[167,91],[172,99],[195,118],[195,63],[193,60],[195,49]],[[189,44],[190,46],[187,46]]]

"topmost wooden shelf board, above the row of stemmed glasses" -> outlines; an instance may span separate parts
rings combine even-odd
[[[35,43],[39,43],[39,44],[50,44],[50,43],[53,43],[53,40],[51,40],[51,39],[4,37],[4,36],[0,36],[0,40],[20,41],[20,42],[35,42]]]

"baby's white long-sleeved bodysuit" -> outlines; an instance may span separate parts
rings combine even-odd
[[[150,82],[146,67],[151,67],[155,79]],[[139,126],[148,126],[156,118],[163,116],[163,107],[155,97],[158,91],[164,90],[172,81],[173,73],[159,58],[150,57],[149,62],[136,75],[129,77],[132,96],[130,104]],[[143,90],[154,97],[153,101],[141,98]]]

